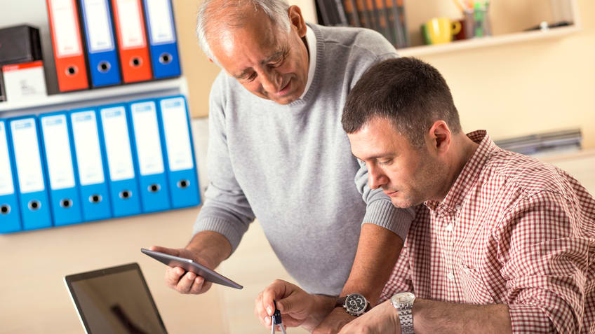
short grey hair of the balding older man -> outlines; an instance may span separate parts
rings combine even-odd
[[[220,4],[217,4],[218,1]],[[289,32],[290,21],[287,13],[289,4],[286,0],[204,0],[199,7],[198,15],[196,15],[196,36],[199,39],[199,46],[203,50],[203,53],[216,64],[218,64],[218,62],[208,45],[207,30],[217,29],[222,25],[232,27],[237,25],[238,21],[245,18],[245,15],[241,13],[241,9],[246,5],[253,6],[254,11],[265,12],[274,25]],[[234,13],[234,19],[236,20],[232,20],[232,22],[218,22],[216,20],[216,18],[218,18],[218,13],[229,7],[236,7],[236,13]]]

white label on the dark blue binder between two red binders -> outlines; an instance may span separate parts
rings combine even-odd
[[[83,6],[87,20],[89,51],[98,53],[114,50],[107,0],[83,0]]]

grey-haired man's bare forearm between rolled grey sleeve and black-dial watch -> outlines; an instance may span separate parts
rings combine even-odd
[[[363,224],[352,271],[341,295],[361,293],[376,305],[402,248],[403,240],[391,230]]]

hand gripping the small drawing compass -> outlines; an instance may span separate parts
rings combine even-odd
[[[333,297],[311,295],[294,284],[277,279],[255,300],[254,314],[267,328],[271,328],[271,316],[275,311],[273,300],[285,326],[302,326],[307,330],[312,330],[335,306]]]

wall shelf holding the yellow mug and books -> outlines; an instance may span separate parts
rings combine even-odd
[[[500,36],[486,36],[476,39],[467,39],[464,41],[453,41],[446,44],[436,44],[432,46],[414,46],[412,48],[397,49],[402,57],[434,55],[438,53],[449,53],[460,50],[471,50],[475,48],[485,48],[488,46],[500,46],[508,43],[518,43],[524,41],[535,41],[540,39],[554,39],[568,34],[574,34],[580,31],[580,27],[572,25],[568,27],[552,28],[545,31],[515,32]]]

